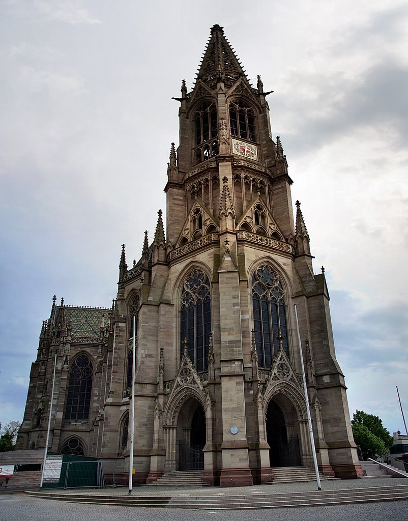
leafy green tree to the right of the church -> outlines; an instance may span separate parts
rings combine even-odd
[[[354,441],[360,445],[364,460],[388,453],[393,445],[392,436],[374,414],[356,411],[351,420]]]

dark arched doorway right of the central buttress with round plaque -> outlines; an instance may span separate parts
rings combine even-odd
[[[266,412],[266,437],[269,444],[271,467],[301,465],[297,415],[275,400],[269,402]]]

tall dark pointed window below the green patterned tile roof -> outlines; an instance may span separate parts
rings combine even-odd
[[[72,364],[68,398],[65,407],[65,419],[70,421],[84,421],[89,418],[89,409],[92,395],[93,369],[88,356],[78,356]]]

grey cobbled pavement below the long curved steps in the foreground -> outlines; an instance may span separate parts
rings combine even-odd
[[[7,521],[408,521],[408,501],[265,510],[203,511],[87,505],[0,495],[0,519]]]

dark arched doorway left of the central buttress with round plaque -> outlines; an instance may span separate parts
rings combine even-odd
[[[183,404],[177,421],[177,446],[179,470],[204,468],[206,441],[205,413],[202,405],[191,398]]]

